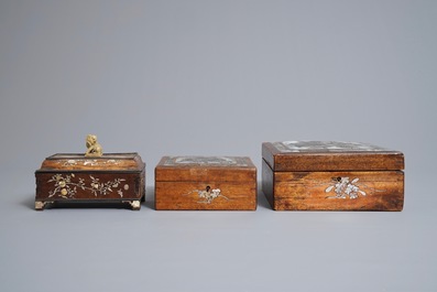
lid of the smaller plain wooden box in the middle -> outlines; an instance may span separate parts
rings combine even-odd
[[[155,167],[156,182],[238,182],[256,177],[245,156],[163,156]]]

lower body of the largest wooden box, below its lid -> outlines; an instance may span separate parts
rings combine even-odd
[[[404,173],[272,172],[264,162],[263,192],[275,210],[402,210]]]

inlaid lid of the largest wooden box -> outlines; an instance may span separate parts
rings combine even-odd
[[[400,151],[360,142],[284,141],[262,144],[273,171],[394,171],[404,169]]]

